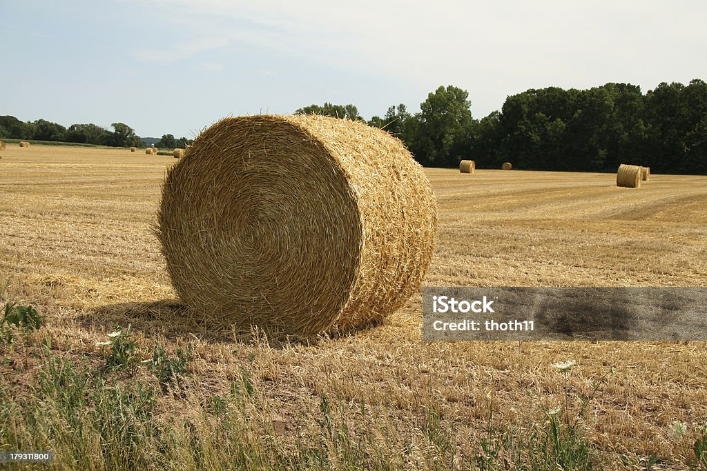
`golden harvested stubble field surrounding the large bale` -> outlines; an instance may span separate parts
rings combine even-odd
[[[178,304],[153,234],[160,184],[175,162],[124,149],[2,151],[0,282],[10,280],[8,299],[45,314],[34,340],[50,340],[45,350],[31,349],[26,368],[23,342],[13,354],[5,348],[4,397],[31,397],[47,352],[100,370],[109,350],[96,343],[130,325],[144,359],[156,342],[192,352],[180,390],[158,394],[151,413],[179,431],[177,444],[165,441],[175,450],[184,448],[180,440],[194,440],[189,423],[201,434],[210,433],[209,424],[216,429],[218,414],[208,412],[214,398],[232,397],[241,385],[235,389],[247,394],[236,415],[247,427],[240,440],[283,455],[302,443],[341,452],[333,429],[345,430],[370,462],[381,453],[400,467],[455,467],[475,460],[491,429],[532,436],[548,410],[578,415],[591,396],[581,427],[600,467],[640,468],[651,456],[663,469],[694,463],[707,424],[703,342],[423,342],[419,293],[379,326],[309,345],[211,331]],[[707,177],[652,174],[640,189],[625,189],[615,174],[426,174],[440,221],[424,285],[707,283]],[[570,359],[577,364],[566,377],[549,366]],[[145,366],[112,375],[119,384],[153,381]],[[3,443],[8,434],[23,436],[31,449],[51,449],[69,466],[76,451],[68,439],[54,443],[49,432],[33,438],[29,430],[5,418]],[[158,440],[153,432],[138,435]],[[211,448],[200,442],[204,456],[219,453],[218,437],[211,440]],[[100,443],[87,440],[86,447]],[[502,447],[501,455],[515,449]],[[187,468],[196,459],[182,458]]]

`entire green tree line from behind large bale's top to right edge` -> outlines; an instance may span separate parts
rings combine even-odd
[[[310,105],[297,113],[361,119],[354,105]],[[653,172],[707,174],[707,84],[607,83],[588,90],[549,87],[506,98],[500,111],[473,119],[466,90],[439,87],[410,114],[391,106],[370,126],[400,138],[431,167],[477,167],[568,172],[615,172],[621,162]]]

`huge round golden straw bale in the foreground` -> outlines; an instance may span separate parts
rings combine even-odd
[[[399,309],[436,239],[422,167],[389,133],[308,116],[226,118],[168,169],[167,270],[212,325],[312,335]]]

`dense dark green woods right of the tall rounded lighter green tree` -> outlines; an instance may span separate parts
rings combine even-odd
[[[707,84],[629,83],[544,88],[510,96],[476,121],[469,155],[497,167],[614,172],[621,162],[656,172],[707,173]]]

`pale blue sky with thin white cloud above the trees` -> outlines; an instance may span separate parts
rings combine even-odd
[[[226,116],[353,103],[479,119],[530,88],[707,80],[704,1],[0,0],[0,115],[194,138]]]

